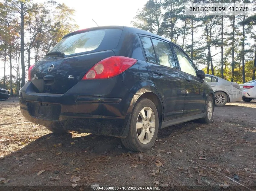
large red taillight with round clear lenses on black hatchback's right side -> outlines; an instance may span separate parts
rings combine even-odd
[[[86,72],[83,80],[86,79],[106,79],[115,77],[137,62],[136,59],[124,56],[111,56],[101,60]]]

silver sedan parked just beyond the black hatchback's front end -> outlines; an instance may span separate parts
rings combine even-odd
[[[215,93],[215,106],[224,106],[228,102],[241,101],[242,91],[238,83],[206,74],[204,79]]]

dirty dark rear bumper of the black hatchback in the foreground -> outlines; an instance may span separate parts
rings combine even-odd
[[[80,85],[78,82],[65,94],[46,94],[34,92],[33,84],[27,82],[19,94],[22,115],[32,123],[52,128],[122,137],[134,95],[123,85],[119,88],[122,93],[116,97],[95,96],[93,92],[88,96],[76,90]],[[38,111],[41,103],[58,107],[49,116],[41,115]]]

